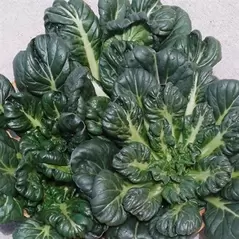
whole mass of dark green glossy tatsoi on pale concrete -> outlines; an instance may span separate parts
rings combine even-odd
[[[159,0],[98,6],[56,0],[17,89],[0,76],[0,223],[22,221],[14,239],[239,238],[239,82],[213,75],[220,43]]]

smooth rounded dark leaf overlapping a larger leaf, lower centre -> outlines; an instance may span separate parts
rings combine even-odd
[[[122,179],[108,170],[102,170],[94,180],[92,199],[93,215],[100,223],[118,226],[127,219],[122,205],[126,194]]]

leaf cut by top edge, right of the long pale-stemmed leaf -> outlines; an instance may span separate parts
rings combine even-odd
[[[129,0],[99,0],[98,8],[100,14],[100,24],[106,25],[107,22],[126,17]]]

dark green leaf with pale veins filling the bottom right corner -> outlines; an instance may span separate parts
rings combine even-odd
[[[219,197],[206,199],[208,204],[205,220],[205,236],[210,239],[236,239],[239,237],[239,207],[236,201]]]

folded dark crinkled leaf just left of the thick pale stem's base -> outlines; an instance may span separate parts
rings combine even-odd
[[[66,79],[64,94],[67,97],[66,111],[76,113],[84,120],[85,104],[93,96],[95,89],[92,76],[85,67],[75,68]]]

